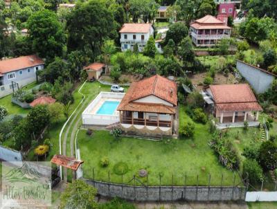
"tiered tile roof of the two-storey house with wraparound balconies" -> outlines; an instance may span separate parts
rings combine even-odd
[[[229,26],[226,26],[223,21],[211,15],[206,15],[201,19],[195,20],[193,24],[190,24],[190,27],[195,29],[231,29]]]

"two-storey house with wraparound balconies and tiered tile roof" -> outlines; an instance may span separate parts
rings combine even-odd
[[[190,24],[190,37],[195,46],[215,46],[223,38],[229,38],[231,28],[227,23],[206,15]]]

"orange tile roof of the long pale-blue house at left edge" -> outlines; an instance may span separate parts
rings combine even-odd
[[[21,69],[44,64],[44,61],[37,57],[37,55],[28,55],[24,57],[17,57],[9,60],[0,61],[0,73],[9,73]]]

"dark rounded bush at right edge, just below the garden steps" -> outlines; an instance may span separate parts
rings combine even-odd
[[[274,170],[277,168],[277,145],[267,140],[260,145],[258,161],[262,169]]]

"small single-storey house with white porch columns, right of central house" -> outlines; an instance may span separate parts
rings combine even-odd
[[[202,94],[220,124],[240,123],[243,126],[243,122],[247,121],[259,125],[262,107],[248,84],[210,85]]]

